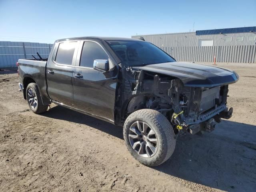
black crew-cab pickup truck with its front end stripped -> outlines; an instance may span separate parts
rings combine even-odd
[[[147,166],[170,158],[178,135],[211,132],[230,118],[228,84],[239,79],[224,68],[176,62],[130,38],[56,40],[49,58],[17,64],[34,113],[55,103],[123,126],[129,152]]]

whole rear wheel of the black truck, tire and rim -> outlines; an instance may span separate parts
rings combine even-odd
[[[44,106],[41,100],[40,92],[36,83],[30,83],[26,89],[26,97],[30,109],[36,113],[46,112],[48,106]]]

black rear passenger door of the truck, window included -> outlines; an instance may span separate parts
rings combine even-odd
[[[46,68],[47,92],[50,98],[67,106],[74,104],[72,76],[76,63],[77,41],[55,44],[53,57]]]

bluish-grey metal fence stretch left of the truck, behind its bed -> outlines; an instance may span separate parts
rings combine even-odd
[[[14,67],[18,59],[38,58],[38,52],[43,58],[48,58],[52,44],[0,41],[0,68]]]

